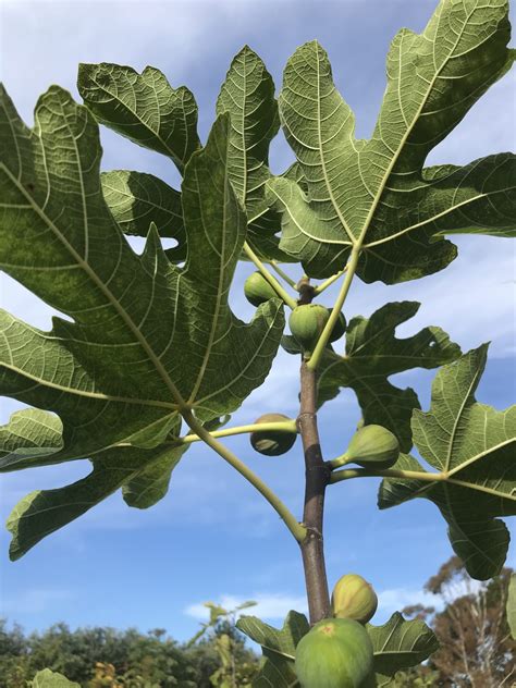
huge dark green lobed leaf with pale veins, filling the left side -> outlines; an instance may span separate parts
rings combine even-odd
[[[180,269],[167,260],[153,224],[142,256],[127,244],[103,199],[98,125],[84,106],[52,86],[32,132],[0,95],[0,267],[72,318],[54,318],[52,331],[42,332],[0,311],[0,392],[59,416],[62,446],[53,444],[47,462],[38,450],[37,465],[98,458],[100,468],[86,479],[95,483],[88,504],[98,501],[112,457],[102,452],[133,450],[124,453],[127,470],[121,465],[105,491],[136,478],[140,452],[146,474],[126,487],[126,499],[145,506],[168,484],[175,458],[160,444],[179,432],[180,410],[192,409],[201,422],[235,410],[267,377],[284,325],[279,299],[258,308],[249,324],[228,304],[246,232],[225,171],[228,118],[185,169],[188,259]],[[135,493],[144,478],[155,488],[142,501]],[[29,529],[20,552],[36,539]]]

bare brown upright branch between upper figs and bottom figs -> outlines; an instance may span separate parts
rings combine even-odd
[[[300,368],[300,408],[297,427],[305,453],[306,488],[303,524],[307,536],[300,543],[310,624],[330,616],[330,594],[324,563],[322,520],[324,492],[331,471],[322,458],[317,429],[317,372]]]

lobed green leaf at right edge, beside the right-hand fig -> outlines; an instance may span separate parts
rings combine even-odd
[[[509,535],[497,516],[516,514],[516,406],[499,411],[479,404],[475,391],[486,367],[488,345],[443,366],[432,384],[430,410],[415,410],[414,442],[438,474],[388,478],[380,508],[420,496],[432,501],[449,525],[455,553],[478,580],[496,576]],[[396,469],[425,472],[411,456]]]

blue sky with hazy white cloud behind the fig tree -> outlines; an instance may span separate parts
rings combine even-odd
[[[200,2],[23,2],[0,0],[0,73],[20,113],[32,125],[38,95],[50,84],[75,89],[79,62],[116,62],[140,71],[161,69],[173,86],[187,85],[199,105],[202,139],[233,56],[248,44],[265,60],[277,87],[295,48],[317,38],[329,51],[341,93],[357,115],[357,135],[372,130],[384,89],[389,42],[402,26],[420,30],[434,0],[321,0]],[[495,85],[428,162],[465,163],[514,149],[514,76]],[[152,172],[177,184],[172,165],[102,130],[102,167]],[[292,160],[282,137],[272,168]],[[389,300],[421,300],[416,318],[398,329],[444,328],[464,351],[492,340],[491,358],[478,397],[499,408],[515,398],[515,253],[507,241],[459,237],[459,257],[444,272],[419,282],[384,287],[355,283],[346,312],[370,315]],[[235,312],[248,319],[242,267],[232,293]],[[293,273],[295,277],[295,273]],[[1,305],[41,329],[51,309],[1,277]],[[334,293],[333,293],[334,295]],[[330,303],[332,292],[328,293]],[[234,425],[265,411],[294,416],[297,361],[280,355],[266,385],[234,415]],[[403,376],[428,407],[430,371]],[[20,406],[2,400],[0,421]],[[352,394],[324,407],[320,417],[328,457],[346,446],[358,418]],[[254,454],[245,438],[228,441],[300,516],[303,467],[299,444],[290,454]],[[35,489],[65,484],[88,472],[86,462],[0,477],[0,516]],[[422,599],[421,587],[451,555],[445,525],[423,501],[378,512],[378,481],[341,483],[329,491],[325,542],[329,578],[356,572],[380,593],[376,622]],[[513,528],[514,532],[514,528]],[[119,494],[10,563],[9,537],[0,532],[0,615],[26,628],[57,621],[77,625],[163,627],[177,639],[192,636],[199,604],[255,599],[256,612],[274,624],[288,609],[305,611],[300,558],[295,543],[268,504],[214,454],[195,445],[173,475],[167,497],[153,508],[130,509]],[[509,563],[516,565],[513,546]]]

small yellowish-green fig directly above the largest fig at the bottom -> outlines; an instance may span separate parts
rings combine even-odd
[[[333,616],[367,624],[374,616],[377,607],[377,593],[361,576],[346,574],[339,578],[331,595]]]

